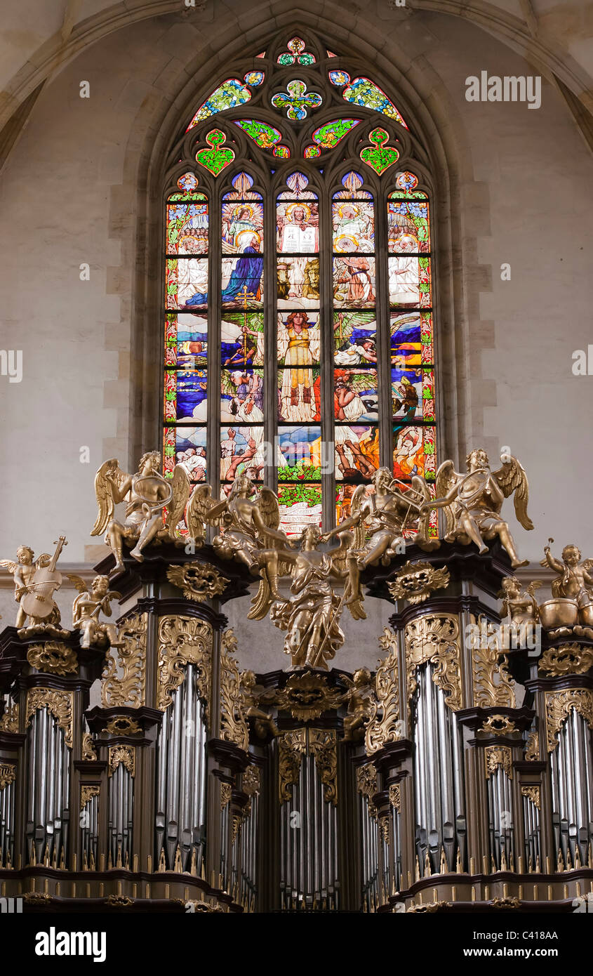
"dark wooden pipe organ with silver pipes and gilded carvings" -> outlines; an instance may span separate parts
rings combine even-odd
[[[420,564],[446,584],[395,596]],[[180,592],[172,565],[200,587]],[[249,573],[209,545],[126,557],[111,645],[6,627],[0,895],[56,912],[571,906],[593,891],[593,639],[496,643],[509,573],[498,544],[365,570],[392,607],[373,673],[242,671],[223,607]]]

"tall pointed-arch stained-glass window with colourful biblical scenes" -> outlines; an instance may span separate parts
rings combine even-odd
[[[267,484],[290,534],[379,467],[434,478],[431,180],[372,74],[279,36],[213,78],[170,157],[165,470]]]

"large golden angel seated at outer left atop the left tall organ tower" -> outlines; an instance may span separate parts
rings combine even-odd
[[[130,555],[142,562],[142,549],[153,539],[175,540],[174,531],[187,504],[190,492],[187,472],[176,465],[173,479],[161,474],[159,451],[148,451],[140,458],[136,474],[126,474],[115,458],[105,461],[95,477],[95,493],[99,513],[91,531],[92,536],[105,532],[105,543],[115,555],[115,567],[109,576],[124,572],[123,542],[136,543]],[[128,496],[126,519],[113,517],[115,506]],[[163,519],[167,508],[167,520]]]

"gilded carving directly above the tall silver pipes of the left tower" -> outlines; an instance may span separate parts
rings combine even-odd
[[[196,665],[200,697],[210,709],[212,675],[212,627],[195,617],[170,615],[159,619],[157,665],[157,709],[165,712],[173,702],[174,692],[183,681],[185,666]]]

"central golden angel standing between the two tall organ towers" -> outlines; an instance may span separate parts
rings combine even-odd
[[[328,670],[328,661],[344,641],[339,627],[344,604],[354,620],[366,618],[356,557],[350,552],[353,536],[342,532],[339,540],[336,549],[320,552],[321,530],[317,525],[307,525],[298,549],[286,540],[281,548],[262,553],[261,583],[249,617],[261,620],[269,610],[276,627],[288,631],[284,653],[291,656],[293,668],[308,665]],[[271,568],[266,564],[268,559]],[[287,599],[275,594],[275,574],[291,576],[292,595]],[[345,584],[341,598],[333,590],[334,582]]]

